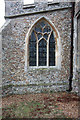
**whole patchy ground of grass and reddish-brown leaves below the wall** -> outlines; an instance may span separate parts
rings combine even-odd
[[[58,120],[77,118],[79,99],[72,93],[12,95],[2,99],[2,117],[6,120],[8,118],[58,118]],[[71,115],[68,114],[70,112]]]

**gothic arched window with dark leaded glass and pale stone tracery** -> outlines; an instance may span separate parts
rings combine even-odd
[[[55,66],[55,60],[54,30],[41,19],[29,37],[29,66]]]

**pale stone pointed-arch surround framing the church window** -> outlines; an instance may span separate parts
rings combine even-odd
[[[34,28],[34,26],[40,21],[40,20],[45,20],[48,22],[48,24],[52,27],[53,31],[54,31],[54,37],[55,37],[55,40],[56,40],[56,50],[55,50],[55,53],[56,53],[56,65],[53,66],[52,68],[53,69],[61,69],[61,40],[60,40],[60,34],[57,30],[57,28],[55,27],[55,25],[52,23],[52,21],[50,19],[48,19],[47,17],[45,16],[42,16],[40,17],[39,19],[37,19],[32,25],[31,27],[29,28],[28,30],[28,33],[26,34],[26,38],[25,38],[25,72],[27,72],[27,69],[29,68],[29,65],[28,65],[28,56],[29,56],[29,53],[28,53],[28,46],[29,46],[29,36]],[[39,67],[34,67],[34,68],[39,68]],[[49,67],[48,67],[49,68]]]

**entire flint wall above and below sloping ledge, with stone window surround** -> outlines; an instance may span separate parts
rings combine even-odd
[[[34,0],[34,4],[24,5],[23,0],[5,0],[5,11],[6,23],[0,32],[2,94],[66,91],[70,77],[72,4]],[[27,65],[30,30],[41,19],[48,21],[57,33],[57,65],[52,68]]]

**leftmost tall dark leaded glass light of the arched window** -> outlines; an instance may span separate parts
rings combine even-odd
[[[29,66],[36,66],[36,37],[34,31],[29,39]]]

